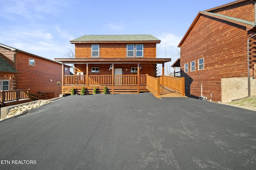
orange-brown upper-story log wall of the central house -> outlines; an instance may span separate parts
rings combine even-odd
[[[76,44],[75,51],[76,58],[91,58],[91,44]],[[100,58],[126,58],[126,44],[100,44]],[[144,58],[156,58],[155,43],[144,44]]]

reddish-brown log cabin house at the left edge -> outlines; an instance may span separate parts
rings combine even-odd
[[[64,66],[70,74],[70,66]],[[31,93],[62,94],[62,64],[0,44],[0,91],[27,90]]]

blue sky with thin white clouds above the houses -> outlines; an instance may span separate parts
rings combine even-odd
[[[157,57],[178,59],[178,43],[199,11],[234,0],[0,0],[0,43],[54,60],[82,35],[151,34]]]

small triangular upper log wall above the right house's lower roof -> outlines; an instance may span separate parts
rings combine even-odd
[[[254,4],[255,1],[241,2],[209,12],[254,22]]]

